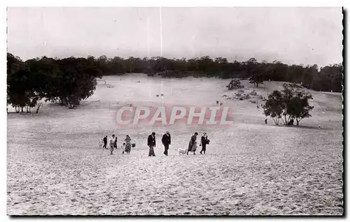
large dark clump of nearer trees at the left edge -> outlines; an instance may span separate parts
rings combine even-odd
[[[16,112],[31,112],[35,106],[38,112],[43,100],[74,108],[94,93],[102,74],[92,57],[22,61],[8,53],[7,104]]]

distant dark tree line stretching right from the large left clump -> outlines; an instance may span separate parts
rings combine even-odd
[[[288,65],[281,61],[261,61],[251,58],[248,61],[232,61],[223,57],[196,57],[193,59],[167,59],[165,57],[129,57],[96,59],[104,75],[123,73],[161,74],[163,77],[220,77],[251,78],[255,84],[262,81],[301,83],[307,89],[316,91],[342,91],[342,64],[324,66]]]

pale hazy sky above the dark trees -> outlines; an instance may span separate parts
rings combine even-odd
[[[8,52],[324,66],[342,62],[342,8],[8,8]]]

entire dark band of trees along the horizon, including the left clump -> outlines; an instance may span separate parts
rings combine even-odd
[[[64,59],[41,57],[22,61],[20,57],[8,53],[8,104],[13,104],[16,111],[24,107],[30,110],[41,98],[45,98],[74,108],[81,100],[93,94],[97,77],[125,73],[147,73],[149,76],[162,77],[250,78],[256,82],[294,82],[316,91],[342,92],[342,71],[342,64],[325,66],[318,71],[317,65],[258,62],[254,58],[230,62],[223,57],[123,59],[89,56]]]

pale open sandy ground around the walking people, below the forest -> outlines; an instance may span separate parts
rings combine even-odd
[[[99,81],[95,94],[76,110],[45,104],[38,114],[8,114],[8,214],[343,213],[341,94],[312,92],[313,117],[300,127],[274,126],[272,120],[266,126],[255,104],[222,98],[234,93],[225,89],[228,80],[121,78]],[[280,87],[266,82],[255,90],[266,96]],[[157,93],[165,97],[156,98]],[[121,130],[113,120],[116,109],[128,103],[214,105],[217,100],[234,111],[229,128]],[[167,130],[172,145],[164,156],[160,139]],[[146,146],[151,131],[157,132],[155,157],[148,157]],[[208,133],[207,154],[180,155],[194,131]],[[98,141],[112,133],[118,146],[129,134],[137,147],[128,155],[120,148],[109,155]]]

